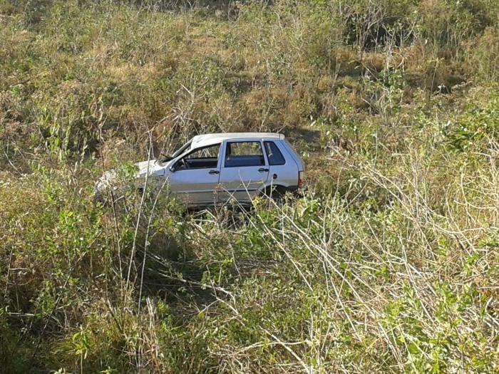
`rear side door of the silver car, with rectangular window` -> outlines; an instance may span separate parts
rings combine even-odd
[[[220,168],[220,202],[247,202],[267,182],[269,166],[261,140],[227,140]]]

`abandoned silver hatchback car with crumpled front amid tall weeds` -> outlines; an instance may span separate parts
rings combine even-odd
[[[231,199],[248,204],[259,194],[294,192],[305,177],[303,161],[284,135],[276,133],[197,135],[171,157],[136,166],[136,187],[168,185],[191,208]],[[110,187],[114,176],[111,171],[101,177],[98,195]]]

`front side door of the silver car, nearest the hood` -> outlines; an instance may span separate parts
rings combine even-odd
[[[170,188],[188,206],[205,206],[217,202],[220,149],[220,143],[197,148],[180,157],[170,167]]]

